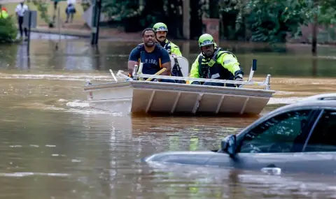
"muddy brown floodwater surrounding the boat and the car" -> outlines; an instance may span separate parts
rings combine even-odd
[[[126,71],[137,43],[71,39],[57,44],[35,36],[27,45],[0,46],[0,198],[336,198],[328,176],[147,165],[139,159],[169,150],[212,150],[221,138],[256,118],[140,117],[89,108],[85,80],[111,81]],[[57,45],[57,47],[56,47]],[[181,43],[190,62],[197,46]],[[227,46],[225,46],[227,47]],[[274,98],[262,115],[304,96],[336,91],[335,47],[286,52],[237,49],[246,76],[272,75]],[[188,49],[187,49],[188,48]],[[234,52],[235,52],[234,51]]]

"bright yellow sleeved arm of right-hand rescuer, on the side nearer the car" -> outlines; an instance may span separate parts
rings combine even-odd
[[[235,76],[235,80],[243,80],[244,73],[239,67],[238,60],[232,54],[223,53],[218,57],[217,61]]]

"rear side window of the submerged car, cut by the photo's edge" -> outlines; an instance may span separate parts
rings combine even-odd
[[[304,151],[336,152],[336,110],[323,111]]]

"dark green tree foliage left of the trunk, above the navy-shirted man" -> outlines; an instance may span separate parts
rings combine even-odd
[[[125,31],[141,31],[164,22],[169,29],[169,38],[181,38],[182,0],[106,0],[102,11],[114,22],[121,22]]]

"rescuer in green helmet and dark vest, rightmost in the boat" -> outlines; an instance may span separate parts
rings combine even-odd
[[[210,34],[202,34],[198,43],[201,53],[197,56],[190,70],[190,78],[209,78],[218,80],[243,80],[243,71],[235,54],[216,46]],[[201,84],[190,81],[190,84]],[[204,82],[204,85],[235,87],[233,84]]]

